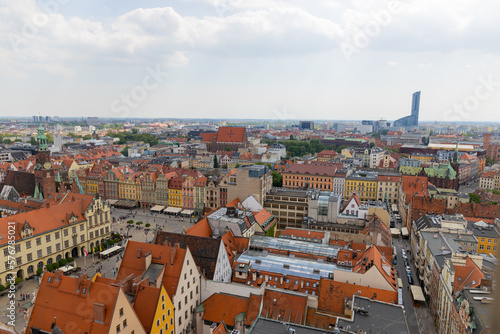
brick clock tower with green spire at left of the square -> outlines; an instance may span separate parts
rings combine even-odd
[[[40,124],[38,128],[38,136],[36,137],[38,148],[36,150],[35,164],[35,197],[47,198],[49,193],[56,192],[56,180],[54,168],[50,162],[50,151],[47,144],[45,130]]]

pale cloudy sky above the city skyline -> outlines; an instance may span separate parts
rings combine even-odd
[[[500,1],[0,0],[0,116],[500,122]]]

